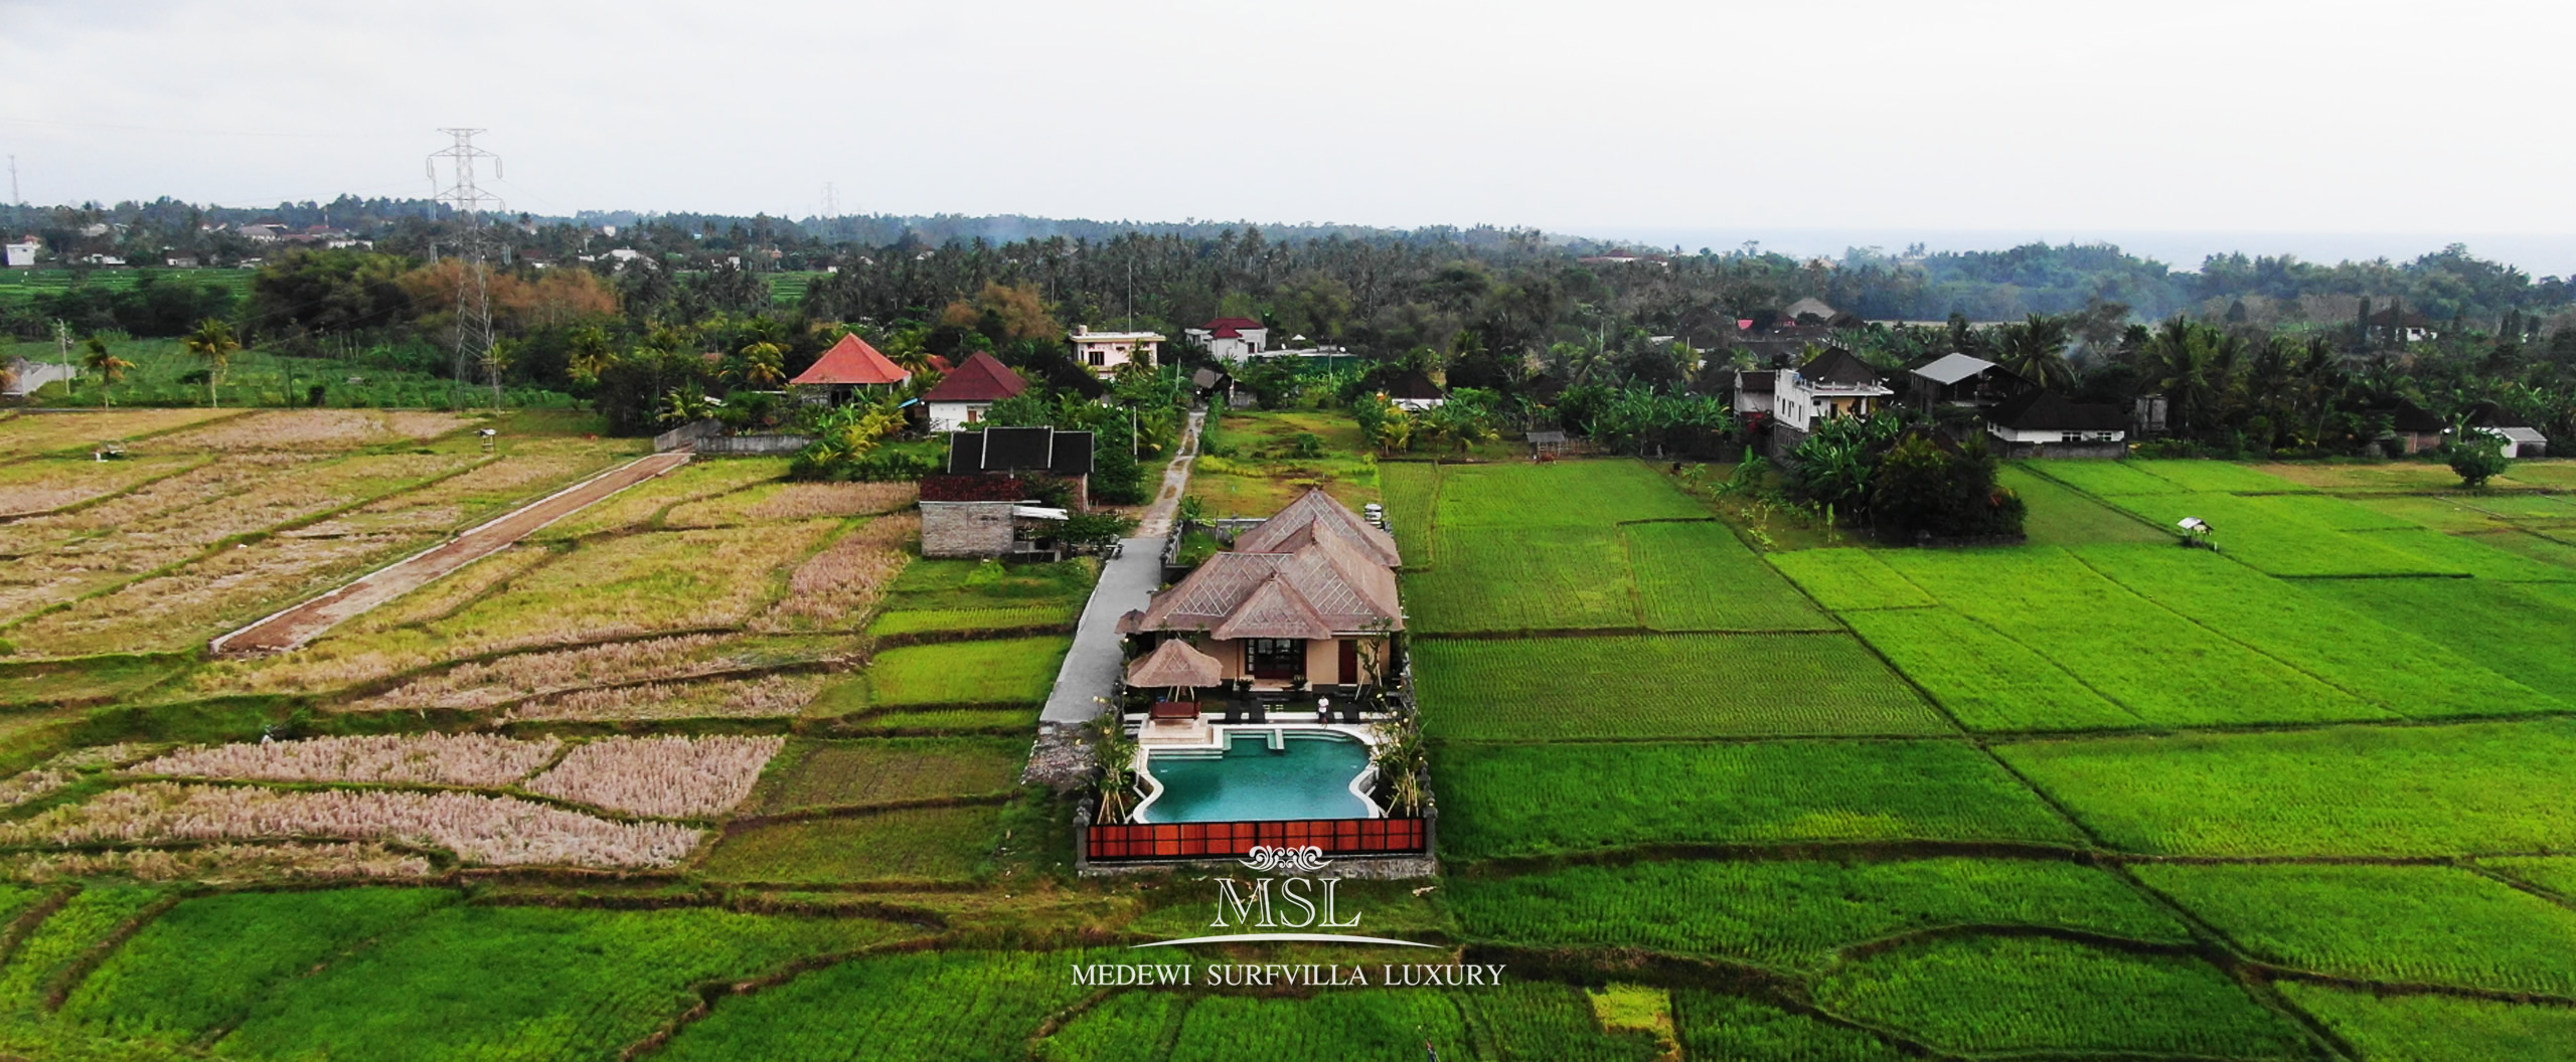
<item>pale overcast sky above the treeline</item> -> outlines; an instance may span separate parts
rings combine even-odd
[[[438,129],[479,126],[541,214],[829,186],[1690,250],[2486,237],[2576,273],[2568,39],[2576,5],[2476,0],[0,0],[0,150],[36,204],[420,196]]]

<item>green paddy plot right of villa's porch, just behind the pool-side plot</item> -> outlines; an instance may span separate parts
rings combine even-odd
[[[1414,670],[1432,737],[1953,732],[1850,634],[1419,639]]]

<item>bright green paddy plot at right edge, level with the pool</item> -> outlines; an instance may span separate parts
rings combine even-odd
[[[1996,750],[2110,845],[2161,856],[2576,848],[2576,722],[2071,737]]]

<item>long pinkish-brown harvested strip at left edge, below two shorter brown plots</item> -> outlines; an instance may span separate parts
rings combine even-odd
[[[0,822],[0,843],[402,840],[484,866],[672,866],[698,830],[613,822],[515,796],[399,789],[263,789],[147,781]]]

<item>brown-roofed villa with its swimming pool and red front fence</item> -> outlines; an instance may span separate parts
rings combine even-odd
[[[1126,613],[1126,691],[1144,693],[1121,696],[1136,802],[1100,822],[1077,812],[1084,874],[1255,845],[1427,874],[1427,776],[1378,776],[1378,722],[1409,711],[1399,562],[1394,536],[1309,490]]]

